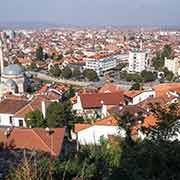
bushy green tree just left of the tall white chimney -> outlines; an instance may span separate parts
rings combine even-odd
[[[35,110],[26,114],[27,126],[31,128],[44,128],[46,127],[46,121],[43,118],[43,114],[39,110]]]

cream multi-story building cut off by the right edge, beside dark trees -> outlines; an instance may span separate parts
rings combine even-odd
[[[172,71],[175,75],[180,75],[180,59],[167,59],[165,58],[164,66],[169,70]]]

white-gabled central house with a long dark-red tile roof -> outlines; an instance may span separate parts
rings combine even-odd
[[[113,106],[123,106],[123,93],[83,93],[77,95],[77,101],[73,105],[73,110],[77,114],[97,118],[107,117],[108,108]]]

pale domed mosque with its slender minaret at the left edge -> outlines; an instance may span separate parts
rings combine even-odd
[[[25,76],[21,66],[10,64],[4,67],[3,45],[0,41],[0,65],[1,65],[1,83],[0,96],[6,92],[15,94],[24,93]]]

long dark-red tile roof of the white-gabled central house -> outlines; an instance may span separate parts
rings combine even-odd
[[[90,93],[80,94],[83,108],[99,108],[104,105],[119,105],[123,103],[123,93]]]

